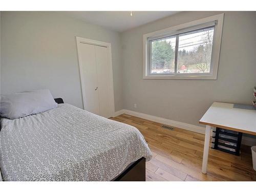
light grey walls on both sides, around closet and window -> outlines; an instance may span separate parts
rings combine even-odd
[[[120,34],[54,12],[2,12],[2,94],[49,88],[82,108],[75,41],[81,36],[112,44],[116,111],[199,125],[214,101],[251,104],[256,12],[225,12],[217,80],[143,79],[142,35],[219,13],[181,12]]]

